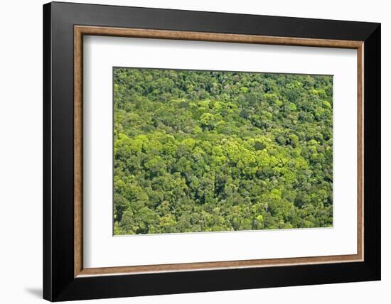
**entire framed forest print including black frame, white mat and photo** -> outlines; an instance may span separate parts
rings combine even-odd
[[[43,296],[380,280],[380,24],[43,6]]]

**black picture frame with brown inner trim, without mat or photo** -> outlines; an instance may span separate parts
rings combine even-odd
[[[358,254],[83,268],[83,35],[357,49]],[[379,23],[55,2],[43,6],[43,77],[45,299],[114,298],[380,279]]]

